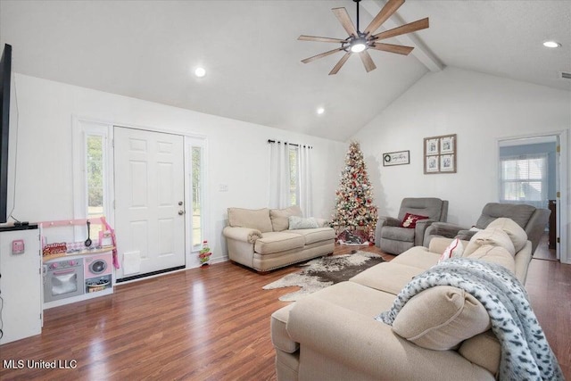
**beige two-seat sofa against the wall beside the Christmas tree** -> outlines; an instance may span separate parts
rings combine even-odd
[[[290,220],[301,228],[292,226]],[[263,272],[333,253],[335,230],[326,223],[325,219],[302,219],[298,206],[228,208],[228,227],[223,230],[228,257]]]

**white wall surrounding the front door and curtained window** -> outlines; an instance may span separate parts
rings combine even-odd
[[[314,147],[314,207],[329,218],[346,144],[220,118],[15,73],[11,127],[18,130],[13,215],[29,221],[73,218],[72,118],[103,120],[207,138],[208,225],[212,260],[228,255],[221,235],[227,208],[267,207],[268,139]],[[17,127],[15,127],[17,126]],[[12,149],[13,147],[11,147]],[[219,185],[228,192],[219,192]]]

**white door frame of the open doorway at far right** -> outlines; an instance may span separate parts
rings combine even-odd
[[[559,178],[559,197],[557,197],[557,211],[559,220],[557,221],[557,236],[559,237],[559,243],[557,244],[557,252],[559,253],[559,261],[561,263],[571,263],[571,256],[569,254],[569,244],[567,236],[567,220],[569,218],[569,205],[567,199],[569,195],[567,194],[567,189],[569,189],[569,178],[568,178],[568,168],[567,168],[567,129],[562,129],[553,132],[535,133],[521,135],[517,137],[501,137],[497,139],[496,144],[496,162],[500,163],[500,144],[508,140],[518,140],[526,139],[532,137],[558,137],[559,138],[559,165],[557,165],[558,178]],[[499,172],[498,172],[499,175]],[[499,176],[498,176],[499,178]],[[496,186],[498,182],[496,182]],[[498,191],[499,194],[499,191]]]

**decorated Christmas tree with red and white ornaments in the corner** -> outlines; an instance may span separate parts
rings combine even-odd
[[[377,206],[373,205],[373,187],[368,180],[367,167],[360,145],[352,142],[345,155],[345,168],[335,193],[335,212],[331,226],[337,233],[348,231],[352,236],[364,236],[369,243],[375,240]],[[347,233],[344,233],[346,236]]]

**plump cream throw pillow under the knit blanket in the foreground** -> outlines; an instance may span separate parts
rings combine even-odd
[[[412,297],[393,331],[434,351],[447,351],[490,328],[490,317],[474,296],[453,286],[435,286]]]

